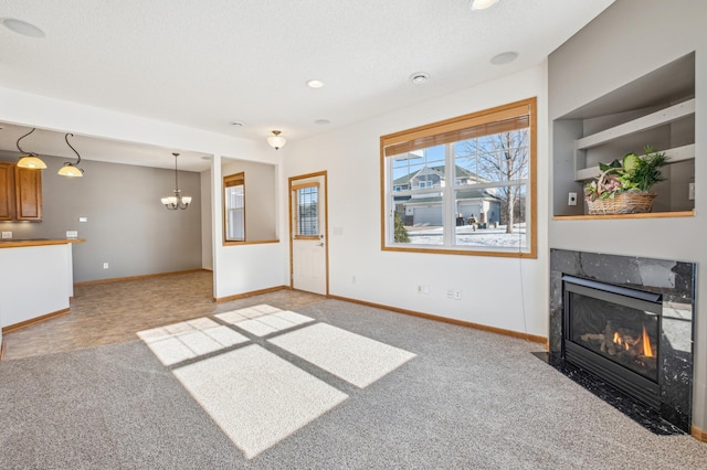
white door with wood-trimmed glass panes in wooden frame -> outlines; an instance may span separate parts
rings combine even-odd
[[[293,289],[328,293],[326,172],[289,179]]]

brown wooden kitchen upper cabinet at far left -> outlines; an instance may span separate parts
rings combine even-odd
[[[42,221],[42,172],[0,162],[0,221]]]

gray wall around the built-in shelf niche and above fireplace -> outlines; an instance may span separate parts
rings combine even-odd
[[[552,248],[697,263],[693,424],[707,429],[707,1],[618,0],[548,61],[552,120],[695,51],[695,216],[615,221],[549,221]],[[648,90],[646,90],[648,93]],[[550,125],[550,129],[552,126]],[[556,130],[557,131],[557,130]],[[563,129],[562,131],[567,131]],[[557,136],[551,136],[552,146]],[[564,158],[551,148],[550,181]],[[556,189],[557,190],[557,189]],[[566,199],[567,195],[563,195]],[[562,197],[559,197],[561,200]]]

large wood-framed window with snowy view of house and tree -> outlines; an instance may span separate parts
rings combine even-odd
[[[382,249],[536,257],[536,98],[380,140]]]

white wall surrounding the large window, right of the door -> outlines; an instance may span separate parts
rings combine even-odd
[[[380,136],[532,96],[538,97],[538,259],[382,252]],[[546,103],[542,64],[346,129],[288,143],[283,184],[288,177],[328,172],[329,293],[547,337]],[[286,206],[286,200],[282,201]],[[430,286],[430,292],[416,293],[418,284]],[[461,289],[462,300],[446,298],[447,288]]]

